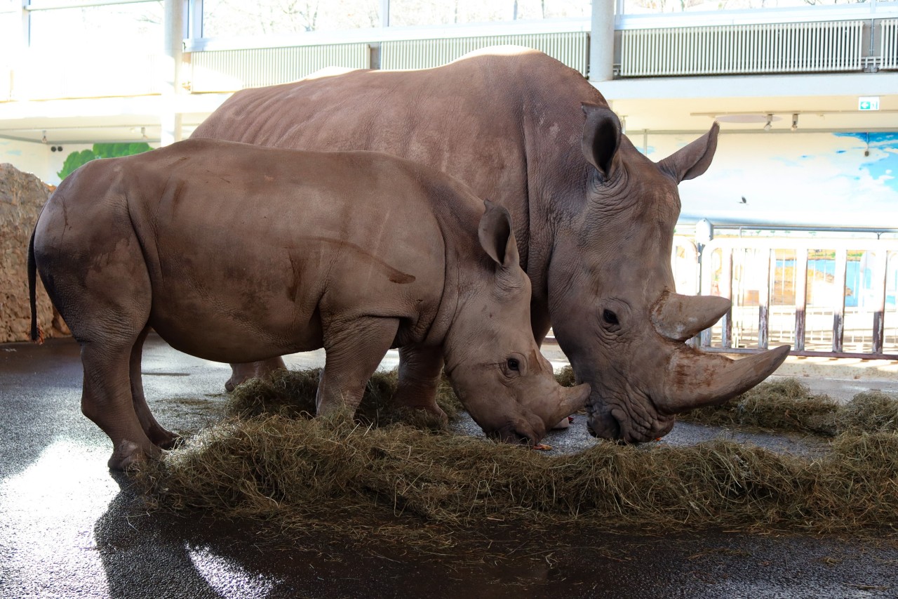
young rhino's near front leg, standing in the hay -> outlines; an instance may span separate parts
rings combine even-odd
[[[341,319],[339,327],[324,331],[324,369],[318,382],[318,416],[347,409],[355,414],[365,385],[392,346],[399,330],[396,318]]]

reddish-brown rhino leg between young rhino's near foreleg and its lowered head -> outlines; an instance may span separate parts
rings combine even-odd
[[[423,410],[446,425],[449,419],[436,405],[436,388],[443,373],[443,348],[406,345],[399,350],[399,385],[393,395],[397,409]]]

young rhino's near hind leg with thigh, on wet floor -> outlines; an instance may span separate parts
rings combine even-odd
[[[82,204],[63,223],[51,207],[35,244],[40,241],[41,278],[81,345],[81,411],[109,435],[110,469],[125,469],[159,452],[137,418],[131,385],[132,362],[140,377],[139,360],[132,356],[150,317],[152,286],[133,230],[120,225],[127,212],[115,219],[109,208],[110,202]]]

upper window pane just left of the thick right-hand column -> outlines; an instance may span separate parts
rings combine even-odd
[[[590,0],[390,0],[391,25],[448,25],[588,17]]]

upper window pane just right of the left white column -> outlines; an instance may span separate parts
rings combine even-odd
[[[203,37],[286,35],[381,26],[381,0],[204,0]]]

